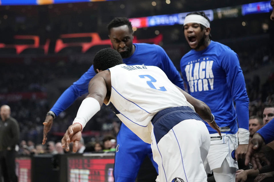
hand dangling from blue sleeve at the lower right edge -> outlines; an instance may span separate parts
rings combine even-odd
[[[261,162],[264,161],[270,165],[269,160],[265,157],[265,142],[259,133],[255,133],[250,140],[245,155],[245,166],[250,162],[254,169],[261,168]]]

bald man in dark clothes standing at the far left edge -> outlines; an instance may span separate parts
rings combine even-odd
[[[17,182],[15,174],[15,145],[19,143],[19,124],[11,117],[11,108],[8,105],[0,107],[0,178],[4,182]]]

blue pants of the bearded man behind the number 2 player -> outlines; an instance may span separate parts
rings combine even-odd
[[[114,163],[115,182],[135,182],[145,157],[148,156],[158,173],[158,165],[152,157],[151,145],[141,140],[124,123],[117,135]]]

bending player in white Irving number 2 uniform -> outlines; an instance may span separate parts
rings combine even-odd
[[[98,74],[90,80],[89,94],[62,139],[63,147],[69,150],[74,142],[76,151],[82,129],[104,103],[151,144],[159,170],[156,181],[206,182],[203,161],[210,137],[203,119],[220,134],[209,107],[175,86],[160,68],[123,64],[114,49],[96,53],[93,65]]]

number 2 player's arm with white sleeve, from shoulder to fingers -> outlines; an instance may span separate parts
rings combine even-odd
[[[108,78],[109,77],[109,78]],[[89,94],[80,105],[73,124],[70,125],[62,138],[62,146],[69,150],[69,143],[73,142],[73,152],[77,151],[78,143],[81,139],[81,132],[86,123],[92,118],[102,106],[103,102],[107,103],[106,96],[110,95],[107,89],[110,84],[110,71],[106,70],[95,75],[88,84]],[[108,98],[108,97],[107,97]]]

